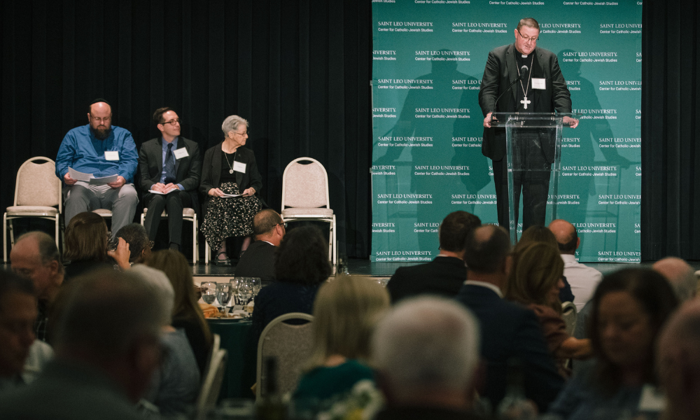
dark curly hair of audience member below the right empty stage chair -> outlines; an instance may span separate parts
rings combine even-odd
[[[274,276],[277,281],[316,285],[330,276],[328,241],[313,225],[290,230],[276,250]]]

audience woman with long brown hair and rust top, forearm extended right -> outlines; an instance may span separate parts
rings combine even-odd
[[[566,360],[589,358],[591,342],[566,332],[559,301],[563,268],[558,249],[544,242],[533,242],[516,251],[503,294],[507,300],[524,304],[535,312],[549,351],[556,358],[559,374],[568,378],[571,372],[566,368]]]

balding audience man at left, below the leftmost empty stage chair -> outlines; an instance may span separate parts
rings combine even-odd
[[[34,323],[36,338],[47,341],[48,307],[63,284],[64,268],[56,242],[44,232],[29,232],[20,236],[10,251],[10,263],[15,273],[34,283],[38,314]]]

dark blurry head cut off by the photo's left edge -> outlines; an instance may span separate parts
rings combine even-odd
[[[22,373],[34,342],[36,297],[31,281],[0,270],[0,378]]]

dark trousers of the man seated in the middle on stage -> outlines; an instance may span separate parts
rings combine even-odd
[[[146,221],[144,221],[148,238],[155,241],[160,216],[163,209],[167,209],[170,244],[180,246],[182,244],[182,209],[192,206],[190,193],[186,191],[173,191],[168,195],[147,193],[144,197],[144,203],[148,209]]]

